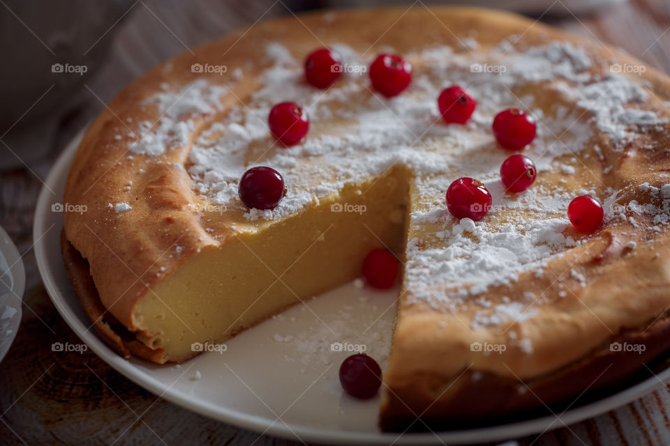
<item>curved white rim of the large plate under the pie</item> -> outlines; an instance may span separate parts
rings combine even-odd
[[[88,126],[87,126],[88,127]],[[126,376],[136,385],[143,387],[159,398],[166,399],[177,406],[186,408],[210,419],[232,424],[241,429],[248,429],[258,433],[269,434],[281,438],[290,438],[292,440],[318,442],[321,444],[343,444],[356,443],[364,445],[432,445],[435,443],[460,443],[472,444],[482,442],[495,442],[533,435],[535,433],[544,433],[563,426],[569,426],[576,422],[587,420],[588,418],[601,415],[609,410],[623,406],[631,401],[639,399],[649,394],[657,387],[670,382],[670,367],[664,369],[646,380],[636,383],[630,387],[611,394],[608,397],[598,399],[583,406],[574,409],[565,410],[563,413],[555,415],[546,415],[543,417],[523,420],[510,424],[501,424],[497,426],[486,426],[477,429],[463,429],[460,431],[437,431],[435,433],[383,433],[383,432],[360,432],[360,431],[338,431],[333,429],[318,429],[312,426],[302,424],[286,424],[281,420],[271,420],[269,417],[259,415],[248,415],[232,408],[217,406],[214,403],[201,399],[189,398],[188,394],[178,392],[172,387],[163,383],[144,371],[135,368],[135,365],[118,353],[113,351],[105,344],[94,330],[82,330],[85,327],[80,319],[72,311],[61,295],[61,290],[52,279],[56,273],[47,261],[46,250],[47,240],[50,234],[46,234],[45,223],[47,222],[47,212],[50,210],[50,187],[63,182],[69,172],[71,158],[74,156],[84,132],[87,127],[80,131],[59,154],[57,161],[50,170],[44,184],[40,190],[35,208],[33,221],[33,240],[36,263],[40,277],[53,302],[54,307],[66,321],[77,337],[79,337],[91,351],[101,357],[110,367]],[[61,229],[62,224],[57,229]],[[1,228],[0,228],[1,229]],[[47,230],[48,231],[48,230]]]

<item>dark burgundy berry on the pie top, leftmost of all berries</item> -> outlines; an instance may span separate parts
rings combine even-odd
[[[284,179],[271,167],[252,167],[239,180],[237,194],[248,208],[274,209],[284,197]]]

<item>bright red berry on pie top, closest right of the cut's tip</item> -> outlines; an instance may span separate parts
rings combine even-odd
[[[491,194],[484,183],[464,176],[447,188],[447,209],[456,218],[482,220],[491,209]]]

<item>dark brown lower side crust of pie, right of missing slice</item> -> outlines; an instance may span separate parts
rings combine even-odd
[[[380,417],[383,431],[465,429],[519,421],[579,407],[649,378],[670,346],[670,317],[624,330],[611,343],[645,346],[613,351],[610,344],[546,376],[523,383],[489,372],[464,371],[456,379],[416,376],[388,392]],[[646,366],[646,367],[645,367]]]

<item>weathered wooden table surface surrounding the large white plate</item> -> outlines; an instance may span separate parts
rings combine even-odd
[[[0,13],[8,13],[5,3],[0,3]],[[560,0],[554,3],[555,7],[562,4]],[[415,7],[424,6],[417,2]],[[101,110],[103,102],[185,47],[248,26],[259,17],[287,13],[281,1],[135,2],[124,20],[112,26],[110,32],[115,34],[103,66],[86,80],[72,102],[52,114],[57,131],[46,141],[50,155],[29,166],[0,172],[0,225],[24,254],[27,272],[22,325],[0,364],[0,444],[300,444],[259,437],[174,406],[131,383],[94,353],[53,352],[52,342],[78,339],[50,302],[31,248],[40,178],[45,178],[66,142]],[[546,14],[540,20],[622,47],[670,73],[667,1],[632,0],[593,15]],[[26,108],[32,102],[27,101]],[[12,131],[24,131],[21,128],[18,123]],[[592,420],[517,440],[521,445],[543,446],[670,445],[669,387]]]

